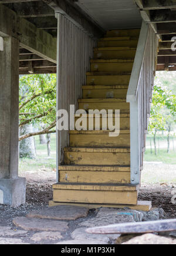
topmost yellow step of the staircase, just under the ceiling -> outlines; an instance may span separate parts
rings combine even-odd
[[[116,29],[107,31],[104,37],[135,36],[139,37],[140,29]]]

